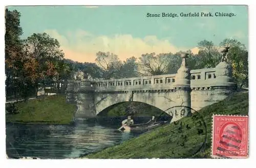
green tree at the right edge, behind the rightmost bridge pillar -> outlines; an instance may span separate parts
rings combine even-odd
[[[233,68],[233,77],[239,87],[248,87],[248,51],[244,44],[236,39],[224,39],[220,46],[228,46],[228,61]]]

